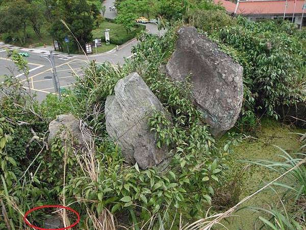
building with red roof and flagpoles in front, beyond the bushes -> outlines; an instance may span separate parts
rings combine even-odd
[[[284,18],[306,26],[306,0],[214,0],[234,15],[242,15],[250,20]]]

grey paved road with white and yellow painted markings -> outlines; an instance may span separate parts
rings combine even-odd
[[[115,12],[110,12],[108,7],[112,5],[113,1],[114,0],[106,0],[104,2],[107,6],[107,17],[115,17],[116,15]],[[146,27],[149,33],[158,34],[158,29],[155,24],[147,24]],[[163,33],[164,31],[161,32],[161,34]],[[90,55],[88,57],[79,56],[67,59],[67,56],[62,57],[58,54],[55,58],[55,64],[61,88],[71,87],[75,81],[75,76],[82,77],[82,69],[88,66],[88,60],[96,60],[97,63],[109,61],[112,64],[123,64],[124,58],[131,57],[131,49],[137,42],[138,41],[134,39],[121,45],[118,51],[113,50],[108,53]],[[22,50],[20,50],[20,52],[21,51]],[[41,58],[40,54],[37,52],[28,51],[28,53],[30,53],[30,57],[25,59],[29,62],[30,67],[30,88],[37,94],[38,100],[42,101],[47,94],[54,93],[51,66],[50,63],[46,59]],[[24,87],[29,87],[29,83],[25,79],[23,73],[18,72],[13,61],[7,57],[6,51],[0,47],[0,75],[9,75],[10,73],[13,73],[14,76],[19,78]],[[3,81],[3,77],[0,77],[0,81]]]

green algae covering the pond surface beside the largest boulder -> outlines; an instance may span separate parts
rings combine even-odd
[[[300,143],[300,136],[296,133],[306,132],[306,130],[293,128],[267,118],[262,119],[261,125],[261,132],[256,137],[247,137],[241,144],[234,147],[234,153],[228,162],[230,169],[227,176],[240,180],[237,183],[241,186],[239,200],[256,192],[265,186],[267,182],[279,176],[277,172],[248,164],[243,160],[282,160],[279,157],[282,151],[276,146],[288,153],[299,152],[302,144]],[[278,202],[278,196],[279,194],[277,195],[271,189],[266,189],[243,203],[240,206],[240,210],[233,213],[235,216],[227,218],[222,224],[230,230],[260,229],[261,223],[257,221],[259,214],[250,209],[241,208],[246,206],[268,208]]]

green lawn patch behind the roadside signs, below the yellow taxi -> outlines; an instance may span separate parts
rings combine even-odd
[[[136,37],[140,29],[133,28],[130,32],[126,32],[124,27],[109,21],[101,22],[99,28],[92,31],[93,39],[101,38],[105,40],[105,30],[110,29],[110,42],[113,44],[123,44]]]

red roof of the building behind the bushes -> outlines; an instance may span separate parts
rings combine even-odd
[[[233,13],[237,5],[226,0],[214,0],[216,4],[221,3],[225,7],[227,12]],[[286,8],[286,14],[302,13],[302,7],[304,0],[296,0],[296,6],[294,11],[295,0],[288,0]],[[284,0],[248,0],[240,1],[236,14],[284,14],[286,1]],[[305,10],[306,13],[306,10]]]

